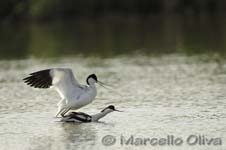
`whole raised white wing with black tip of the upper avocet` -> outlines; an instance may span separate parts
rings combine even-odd
[[[34,88],[55,87],[62,98],[68,99],[76,93],[81,93],[84,88],[75,79],[71,69],[54,68],[31,73],[23,79],[27,85]]]

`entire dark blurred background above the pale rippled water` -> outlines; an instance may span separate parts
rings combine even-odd
[[[1,0],[0,58],[225,56],[225,0]]]

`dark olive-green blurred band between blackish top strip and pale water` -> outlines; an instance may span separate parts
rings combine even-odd
[[[158,16],[5,24],[0,59],[144,54],[226,57],[225,16]]]

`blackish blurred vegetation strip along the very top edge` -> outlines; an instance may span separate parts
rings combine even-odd
[[[222,13],[225,0],[1,0],[0,20],[81,16]]]

